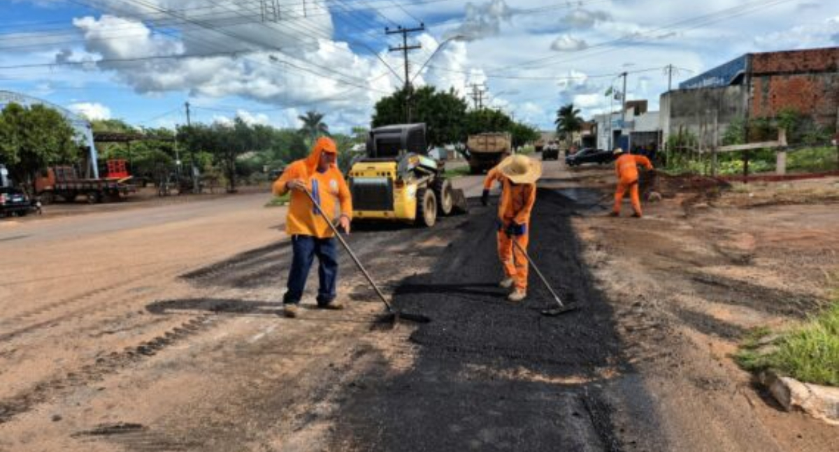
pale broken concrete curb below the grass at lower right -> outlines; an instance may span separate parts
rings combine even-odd
[[[803,411],[831,425],[839,425],[839,387],[826,387],[779,377],[763,371],[758,377],[786,411]]]

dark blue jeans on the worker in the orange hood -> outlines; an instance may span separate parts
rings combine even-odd
[[[317,291],[317,304],[330,304],[336,297],[338,279],[338,253],[335,237],[317,238],[313,236],[291,236],[293,257],[289,271],[289,290],[283,296],[284,304],[298,304],[303,298],[306,278],[312,261],[317,256],[317,274],[320,288]]]

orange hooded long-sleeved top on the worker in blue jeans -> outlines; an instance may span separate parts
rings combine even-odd
[[[352,219],[352,196],[341,170],[335,164],[330,165],[329,169],[322,173],[317,169],[320,154],[324,152],[337,153],[335,142],[330,138],[318,138],[309,157],[297,160],[285,169],[283,175],[274,182],[272,187],[274,195],[286,194],[289,189],[286,188],[285,184],[289,180],[302,179],[327,217],[333,221],[338,216],[347,216],[347,218]],[[291,190],[285,232],[289,236],[315,236],[318,238],[335,235],[317,212],[309,196],[297,190]]]

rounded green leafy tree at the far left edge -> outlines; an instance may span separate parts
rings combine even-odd
[[[10,103],[0,112],[0,159],[18,183],[31,185],[50,164],[76,163],[76,138],[65,117],[50,107]]]

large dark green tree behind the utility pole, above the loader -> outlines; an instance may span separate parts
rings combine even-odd
[[[405,122],[407,91],[403,88],[376,102],[373,127]],[[458,143],[463,138],[463,118],[466,101],[454,89],[437,91],[434,86],[422,86],[411,91],[411,117],[414,122],[425,122],[425,138],[430,146]]]

